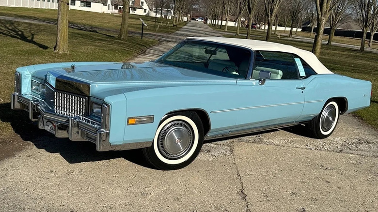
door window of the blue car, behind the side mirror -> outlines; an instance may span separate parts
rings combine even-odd
[[[257,51],[252,79],[258,79],[263,70],[271,73],[270,79],[299,79],[297,63],[290,53]]]

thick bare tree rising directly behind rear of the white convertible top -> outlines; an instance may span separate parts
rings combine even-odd
[[[316,55],[316,57],[319,57],[320,55],[320,49],[322,47],[322,37],[324,32],[324,25],[326,23],[326,20],[331,12],[331,2],[332,0],[315,0],[316,5],[316,14],[317,14],[317,25],[316,30],[317,33],[315,35],[314,39],[314,45],[312,52]]]

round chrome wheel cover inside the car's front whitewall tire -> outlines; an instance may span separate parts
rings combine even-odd
[[[161,130],[157,146],[164,157],[178,159],[188,153],[193,140],[193,130],[188,123],[173,121]]]

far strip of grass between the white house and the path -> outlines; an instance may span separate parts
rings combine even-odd
[[[54,9],[39,9],[39,8],[22,8],[22,7],[0,7],[0,15],[9,17],[21,17],[35,20],[42,20],[47,22],[56,22],[58,16],[58,10]],[[104,28],[110,30],[119,30],[121,26],[122,15],[118,14],[105,14],[94,13],[80,10],[69,10],[68,21],[71,24],[78,24],[87,27]],[[129,15],[128,29],[131,31],[141,31],[142,22],[139,18],[148,25],[148,28],[144,27],[144,31],[156,32],[154,28],[155,17],[148,17],[142,15]],[[167,26],[167,20],[164,18],[157,18],[157,23],[160,23],[159,30],[161,33],[173,33],[183,26],[187,22],[178,23],[177,27],[172,27],[172,20],[168,19],[169,25]],[[161,26],[163,23],[163,26]],[[156,26],[157,28],[157,26]]]

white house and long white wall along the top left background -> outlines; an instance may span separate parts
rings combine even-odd
[[[130,14],[148,14],[146,1],[151,4],[151,0],[130,0]],[[121,13],[123,8],[122,0],[69,0],[69,4],[70,9],[97,13]],[[0,6],[58,9],[58,0],[0,0]]]

